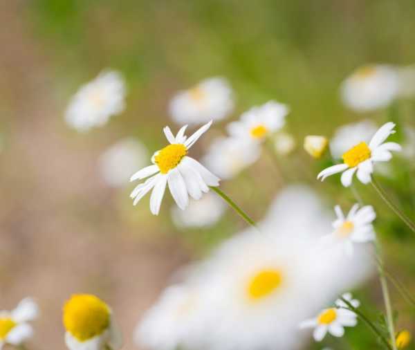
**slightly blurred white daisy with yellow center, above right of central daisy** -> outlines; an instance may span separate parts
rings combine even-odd
[[[288,111],[285,104],[269,101],[242,113],[240,120],[230,122],[228,132],[230,136],[237,138],[256,142],[263,141],[284,127]]]

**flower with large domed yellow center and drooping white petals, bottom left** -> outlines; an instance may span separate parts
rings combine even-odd
[[[72,295],[64,305],[63,322],[68,349],[118,350],[122,346],[111,308],[95,295]]]

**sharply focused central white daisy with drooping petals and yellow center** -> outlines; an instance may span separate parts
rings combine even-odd
[[[178,208],[185,210],[189,204],[189,196],[201,199],[203,192],[209,191],[209,186],[219,186],[219,178],[212,174],[201,163],[187,156],[190,147],[210,128],[212,121],[203,125],[192,136],[187,138],[182,127],[176,137],[169,127],[163,129],[169,145],[156,151],[151,157],[153,165],[145,167],[131,176],[130,181],[147,178],[131,192],[133,205],[136,205],[151,189],[150,210],[157,215],[160,211],[165,188],[168,185],[170,193]],[[150,177],[149,177],[150,176]]]

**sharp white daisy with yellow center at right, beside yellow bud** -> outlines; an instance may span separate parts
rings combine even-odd
[[[392,158],[391,151],[400,151],[401,149],[400,145],[396,142],[383,143],[392,133],[395,133],[394,127],[395,124],[393,122],[387,122],[376,131],[369,145],[362,141],[351,147],[342,156],[343,164],[333,165],[324,169],[317,175],[317,179],[324,181],[326,177],[342,172],[342,184],[344,187],[349,187],[353,175],[357,171],[357,176],[361,183],[366,184],[371,182],[374,163],[387,162]]]

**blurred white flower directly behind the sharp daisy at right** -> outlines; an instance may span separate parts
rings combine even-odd
[[[359,142],[369,143],[377,130],[376,124],[369,119],[339,127],[330,140],[331,156],[340,159],[347,150]]]

